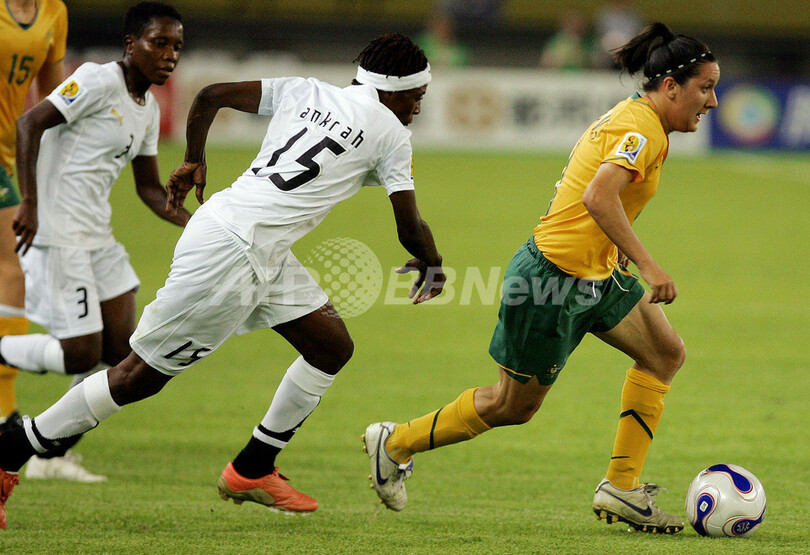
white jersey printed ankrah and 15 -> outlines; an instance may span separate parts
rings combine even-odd
[[[259,114],[272,119],[258,156],[206,206],[247,244],[261,279],[362,186],[381,185],[389,195],[413,189],[411,132],[371,86],[263,79]]]

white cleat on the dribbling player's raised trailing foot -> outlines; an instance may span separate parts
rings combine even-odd
[[[380,501],[392,511],[401,511],[408,504],[405,480],[413,473],[413,457],[399,464],[385,451],[385,441],[394,431],[394,422],[377,422],[366,428],[362,440],[363,450],[371,460],[371,487],[377,492]]]

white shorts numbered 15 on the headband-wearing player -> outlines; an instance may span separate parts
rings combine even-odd
[[[130,338],[132,350],[152,368],[176,376],[234,334],[272,328],[329,301],[289,250],[264,282],[247,251],[208,211],[198,210],[177,242],[166,284]]]

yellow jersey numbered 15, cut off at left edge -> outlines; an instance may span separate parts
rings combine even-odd
[[[46,61],[65,57],[67,8],[62,0],[39,0],[34,20],[21,25],[0,4],[0,165],[14,171],[17,118],[25,108],[31,82]]]

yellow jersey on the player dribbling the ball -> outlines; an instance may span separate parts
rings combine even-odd
[[[655,195],[669,139],[652,103],[635,95],[597,119],[577,142],[548,212],[534,229],[543,255],[564,272],[607,279],[618,266],[616,245],[591,217],[582,195],[602,163],[627,168],[633,181],[619,195],[632,224]]]

